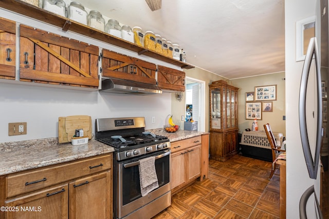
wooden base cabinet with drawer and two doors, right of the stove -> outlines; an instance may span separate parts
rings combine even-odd
[[[196,136],[171,143],[172,194],[201,176],[202,137]]]

